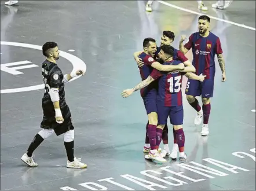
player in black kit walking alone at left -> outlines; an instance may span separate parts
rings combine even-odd
[[[72,124],[70,108],[65,102],[64,83],[79,75],[84,75],[84,71],[72,71],[71,74],[63,75],[56,64],[60,52],[55,42],[46,42],[42,47],[46,60],[42,63],[42,76],[45,83],[45,94],[42,98],[43,120],[42,130],[35,135],[28,150],[21,157],[24,163],[30,167],[38,166],[32,158],[34,150],[44,139],[55,133],[57,136],[64,134],[64,145],[67,151],[68,168],[86,168],[87,165],[74,157],[74,126]]]

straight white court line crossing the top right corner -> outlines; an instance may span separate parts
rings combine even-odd
[[[198,14],[198,15],[207,15],[207,14],[203,14],[203,13],[198,13],[198,12],[195,12],[193,10],[189,10],[189,9],[185,9],[185,8],[181,8],[180,6],[176,6],[176,5],[173,5],[173,4],[170,4],[170,3],[167,3],[165,1],[157,1],[159,3],[162,3],[163,5],[167,5],[167,6],[170,6],[171,8],[175,8],[175,9],[179,9],[179,10],[183,10],[185,12],[189,12],[189,13],[193,13],[193,14]],[[218,21],[222,21],[222,22],[225,22],[225,23],[229,23],[229,24],[233,24],[233,25],[236,25],[237,27],[243,27],[243,28],[247,28],[247,29],[250,29],[250,30],[253,30],[253,31],[256,31],[255,28],[253,27],[248,27],[247,25],[244,25],[244,24],[239,24],[239,23],[235,23],[235,22],[232,22],[232,21],[228,21],[228,20],[224,20],[224,19],[220,19],[218,17],[213,17],[213,16],[210,16],[210,15],[207,15],[209,16],[211,19],[215,19],[215,20],[218,20]]]

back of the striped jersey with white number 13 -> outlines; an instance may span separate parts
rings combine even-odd
[[[178,65],[181,61],[172,60],[163,65]],[[162,76],[158,82],[158,102],[162,102],[164,106],[180,106],[182,105],[182,76],[183,72],[161,72]]]

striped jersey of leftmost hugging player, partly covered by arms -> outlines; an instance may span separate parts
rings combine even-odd
[[[142,52],[139,56],[141,60],[144,62],[143,67],[139,67],[140,70],[140,75],[141,75],[141,80],[145,80],[148,78],[148,76],[151,74],[153,71],[153,68],[151,67],[151,64],[155,62],[155,60],[148,54]],[[147,96],[147,93],[149,91],[156,91],[158,86],[158,82],[152,82],[150,85],[147,87],[144,87],[143,89],[140,90],[141,97]]]

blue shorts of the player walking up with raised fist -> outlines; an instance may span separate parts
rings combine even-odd
[[[213,97],[214,79],[199,80],[188,79],[185,94],[189,96],[201,96],[202,98]]]

